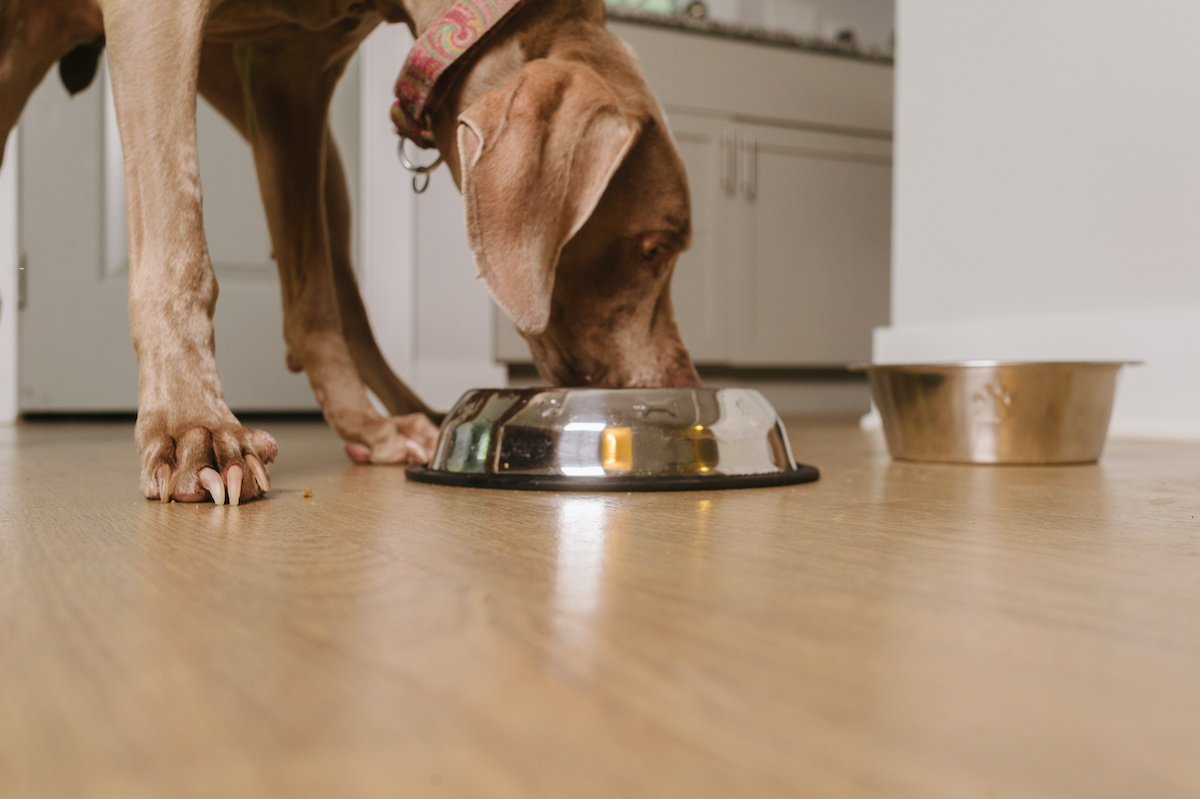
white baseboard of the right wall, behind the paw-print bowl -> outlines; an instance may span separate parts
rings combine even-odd
[[[878,364],[1135,360],[1117,384],[1111,435],[1200,439],[1200,306],[900,324],[875,331]]]

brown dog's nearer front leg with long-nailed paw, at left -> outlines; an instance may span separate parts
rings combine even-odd
[[[196,149],[208,4],[108,0],[103,14],[125,150],[142,491],[236,504],[268,489],[276,446],[238,422],[217,379]]]

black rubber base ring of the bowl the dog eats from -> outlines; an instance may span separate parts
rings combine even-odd
[[[509,491],[727,491],[730,488],[774,488],[816,482],[816,467],[799,464],[791,471],[769,474],[659,475],[650,477],[569,477],[566,475],[460,474],[410,465],[404,475],[414,482],[460,488],[504,488]]]

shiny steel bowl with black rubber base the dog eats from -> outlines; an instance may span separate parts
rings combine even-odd
[[[750,389],[480,389],[442,423],[420,482],[552,491],[682,491],[810,482]]]

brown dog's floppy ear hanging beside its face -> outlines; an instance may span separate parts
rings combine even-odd
[[[460,115],[467,238],[488,290],[523,332],[550,323],[563,247],[636,138],[595,72],[545,59]]]

